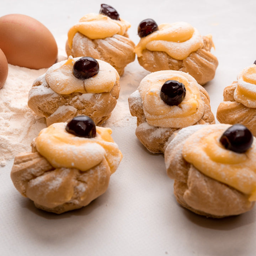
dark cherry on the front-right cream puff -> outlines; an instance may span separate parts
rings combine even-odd
[[[244,153],[251,147],[252,141],[252,133],[242,124],[234,124],[220,137],[220,143],[236,153]]]

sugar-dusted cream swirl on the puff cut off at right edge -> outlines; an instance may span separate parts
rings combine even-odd
[[[246,107],[256,108],[256,65],[244,68],[237,78],[234,99]]]

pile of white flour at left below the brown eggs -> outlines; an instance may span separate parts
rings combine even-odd
[[[45,118],[36,116],[27,106],[33,81],[47,69],[28,69],[9,64],[7,80],[0,89],[0,165],[25,151],[46,127]]]

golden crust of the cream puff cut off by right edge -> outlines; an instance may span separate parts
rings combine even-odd
[[[237,85],[238,82],[234,81],[225,87],[223,91],[224,101],[218,106],[216,118],[220,123],[243,124],[256,136],[256,108],[246,107],[235,101],[234,91]]]

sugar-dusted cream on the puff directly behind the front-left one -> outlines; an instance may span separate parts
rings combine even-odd
[[[45,79],[50,88],[58,94],[71,94],[72,92],[101,93],[110,92],[119,75],[109,63],[98,60],[99,72],[89,79],[78,79],[73,74],[73,66],[80,57],[69,56],[68,60],[63,60],[52,65],[45,74]]]

